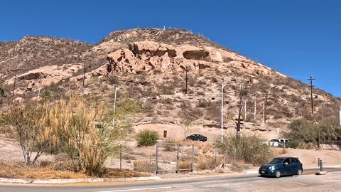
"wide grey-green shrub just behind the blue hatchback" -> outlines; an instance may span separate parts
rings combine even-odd
[[[274,156],[269,146],[262,145],[262,142],[261,137],[256,134],[242,134],[239,137],[227,134],[223,137],[223,142],[217,139],[215,144],[221,153],[226,151],[227,156],[234,157],[236,151],[236,160],[257,166],[268,162]]]

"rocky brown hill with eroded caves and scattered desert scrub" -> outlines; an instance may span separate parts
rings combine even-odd
[[[40,87],[53,95],[100,94],[112,102],[119,86],[119,95],[143,102],[136,125],[181,126],[190,119],[203,129],[219,128],[222,83],[226,129],[234,129],[239,107],[243,129],[266,132],[284,129],[292,119],[337,116],[340,106],[336,97],[314,89],[312,116],[307,85],[182,29],[115,31],[96,45],[32,36],[0,43],[0,77],[3,109],[13,100],[34,99]]]

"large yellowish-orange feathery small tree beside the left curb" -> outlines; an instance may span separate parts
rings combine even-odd
[[[102,174],[104,161],[119,151],[119,142],[131,127],[120,110],[113,127],[106,106],[74,94],[59,100],[44,118],[46,137],[77,160],[88,176]]]

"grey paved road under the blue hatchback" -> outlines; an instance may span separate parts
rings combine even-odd
[[[126,183],[89,183],[89,184],[72,184],[72,185],[33,185],[33,184],[0,184],[0,191],[27,191],[27,192],[119,192],[119,191],[286,191],[287,186],[298,186],[300,190],[306,190],[307,187],[314,186],[319,183],[323,186],[321,178],[327,176],[314,176],[313,173],[317,169],[307,169],[303,176],[287,176],[282,178],[264,178],[258,174],[238,174],[238,175],[223,175],[223,176],[207,176],[199,178],[171,178],[161,181],[144,181],[144,182],[126,182]],[[336,181],[340,178],[340,168],[328,168],[328,180]],[[332,174],[334,172],[334,174]],[[315,181],[315,180],[316,181]],[[280,181],[280,182],[278,182]],[[340,190],[341,190],[341,182]],[[279,185],[279,186],[278,186]],[[329,185],[329,184],[328,184]],[[271,187],[272,186],[272,187]],[[329,185],[330,186],[330,185]],[[339,186],[333,186],[336,189]],[[291,188],[290,191],[296,191],[298,188]],[[316,188],[313,188],[316,189]],[[309,191],[309,190],[308,190]],[[321,190],[320,190],[321,191]],[[335,190],[332,190],[335,191]]]

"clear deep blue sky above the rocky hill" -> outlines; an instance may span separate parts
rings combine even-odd
[[[55,36],[97,43],[128,28],[185,28],[341,97],[338,0],[4,0],[0,41]]]

